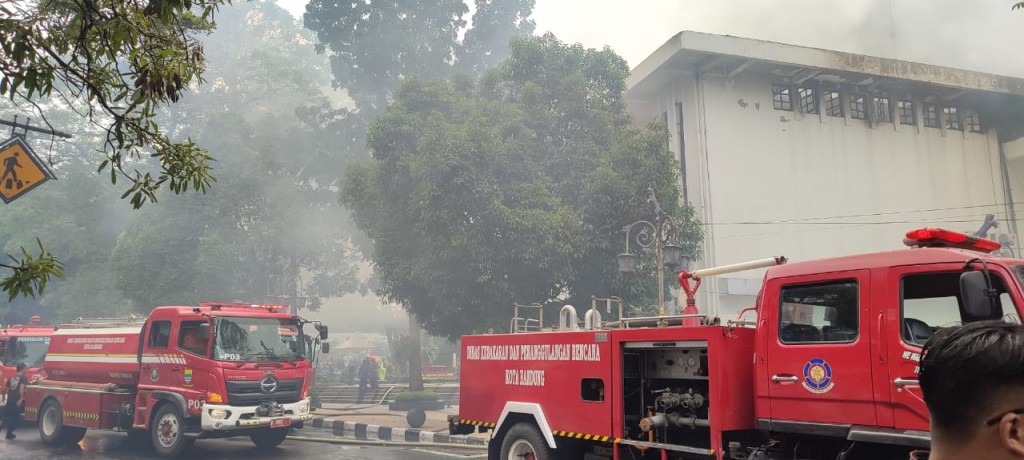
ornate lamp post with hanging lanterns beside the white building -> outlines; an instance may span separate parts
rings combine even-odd
[[[626,252],[618,254],[618,273],[623,275],[634,274],[637,270],[636,254],[630,252],[630,235],[634,235],[634,241],[641,249],[654,247],[657,256],[657,308],[658,315],[665,316],[665,267],[677,267],[686,263],[686,256],[683,248],[668,244],[676,233],[676,222],[668,213],[662,210],[662,206],[654,197],[654,190],[647,187],[647,203],[654,212],[653,221],[637,220],[623,227],[626,233]],[[633,232],[636,228],[636,232]]]

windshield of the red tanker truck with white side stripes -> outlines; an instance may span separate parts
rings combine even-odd
[[[305,360],[298,321],[278,318],[219,317],[214,320],[213,359],[239,363]]]

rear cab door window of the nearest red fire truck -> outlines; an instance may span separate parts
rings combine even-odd
[[[778,338],[782,343],[852,342],[859,335],[856,281],[782,288]]]

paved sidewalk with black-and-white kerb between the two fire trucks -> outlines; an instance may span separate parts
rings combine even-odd
[[[313,419],[307,422],[307,426],[358,440],[486,446],[489,433],[449,434],[447,416],[458,413],[458,406],[426,411],[427,420],[423,426],[411,428],[406,421],[406,412],[389,411],[386,404],[324,404],[323,408],[313,412]]]

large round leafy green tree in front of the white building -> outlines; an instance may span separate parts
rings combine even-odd
[[[628,72],[609,49],[547,35],[514,40],[478,82],[408,79],[342,187],[380,293],[451,338],[504,329],[513,302],[611,294],[648,186],[695,256],[667,129],[634,126]]]

